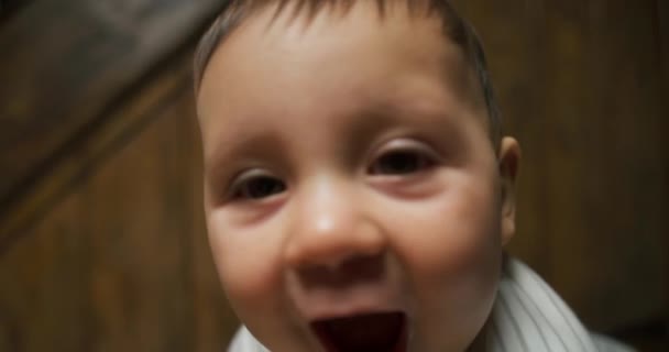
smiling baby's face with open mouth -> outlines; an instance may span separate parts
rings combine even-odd
[[[513,207],[485,109],[438,19],[373,3],[259,12],[198,96],[216,265],[274,352],[462,351],[494,300]]]

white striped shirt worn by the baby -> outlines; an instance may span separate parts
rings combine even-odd
[[[498,293],[486,324],[490,352],[633,352],[589,332],[564,301],[518,260],[505,261]],[[270,352],[244,327],[229,352]]]

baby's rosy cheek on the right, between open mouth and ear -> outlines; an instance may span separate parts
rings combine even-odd
[[[490,315],[501,262],[498,221],[485,197],[442,196],[405,207],[392,228],[430,345],[446,343],[443,331],[473,339]]]

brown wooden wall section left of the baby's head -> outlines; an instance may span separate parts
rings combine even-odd
[[[190,77],[218,7],[35,0],[0,24],[0,351],[230,338]]]

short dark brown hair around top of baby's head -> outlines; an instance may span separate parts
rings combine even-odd
[[[195,53],[195,65],[194,65],[194,79],[195,79],[195,91],[199,89],[199,86],[205,74],[207,64],[209,63],[211,55],[216,48],[230,35],[232,31],[243,22],[249,15],[255,13],[268,4],[278,4],[278,10],[282,11],[289,2],[296,3],[295,11],[300,11],[305,7],[308,9],[309,14],[316,14],[326,4],[330,6],[342,6],[350,8],[357,0],[228,0],[223,7],[223,10],[219,16],[211,24],[209,30],[201,37],[196,53]],[[369,0],[361,0],[369,1]],[[380,13],[383,15],[385,7],[390,1],[401,0],[375,0]],[[402,0],[407,3],[409,10],[416,6],[425,6],[428,11],[427,14],[436,13],[442,19],[443,33],[446,37],[456,45],[458,45],[464,53],[464,57],[473,69],[478,82],[481,87],[481,94],[485,101],[487,109],[489,121],[490,121],[490,133],[491,139],[494,143],[494,147],[501,139],[501,117],[497,105],[495,102],[494,91],[490,74],[487,70],[487,64],[485,59],[485,53],[481,40],[476,35],[473,28],[467,22],[448,0]]]

